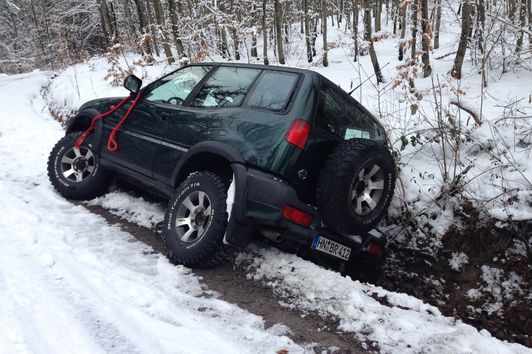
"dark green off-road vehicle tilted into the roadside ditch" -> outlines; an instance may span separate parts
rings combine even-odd
[[[323,76],[209,63],[124,86],[124,99],[82,105],[53,148],[64,197],[101,195],[115,175],[166,196],[164,244],[187,266],[219,264],[258,235],[342,261],[380,253],[374,228],[395,186],[386,134]]]

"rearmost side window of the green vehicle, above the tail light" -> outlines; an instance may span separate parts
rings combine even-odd
[[[247,106],[271,111],[281,111],[288,104],[298,75],[265,71],[249,94]]]

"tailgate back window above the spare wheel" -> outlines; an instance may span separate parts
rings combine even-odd
[[[333,85],[320,87],[316,124],[343,140],[385,140],[385,133],[360,103],[345,97]]]

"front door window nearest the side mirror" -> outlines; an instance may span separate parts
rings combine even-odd
[[[145,96],[148,101],[181,106],[211,66],[188,66],[156,81]]]

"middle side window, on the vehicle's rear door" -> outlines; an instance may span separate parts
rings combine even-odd
[[[258,69],[220,67],[192,99],[192,107],[235,107],[242,103]]]

